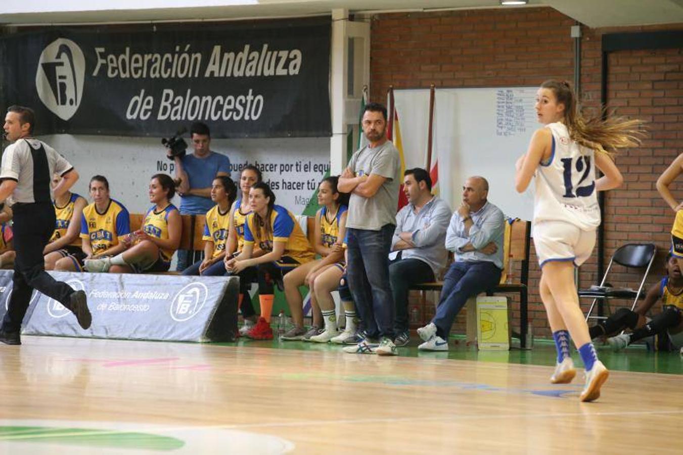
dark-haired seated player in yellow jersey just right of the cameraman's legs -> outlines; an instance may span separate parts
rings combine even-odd
[[[206,212],[204,223],[204,259],[197,261],[183,275],[225,275],[225,243],[229,230],[230,205],[235,200],[237,187],[228,176],[218,176],[211,184],[211,200],[215,206]]]

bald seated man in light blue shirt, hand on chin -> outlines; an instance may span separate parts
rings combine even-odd
[[[462,204],[451,217],[446,248],[454,252],[443,281],[436,315],[417,329],[421,350],[448,350],[448,334],[467,299],[495,288],[503,271],[505,217],[488,202],[488,182],[475,176],[462,187]]]

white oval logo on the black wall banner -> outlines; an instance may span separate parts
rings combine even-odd
[[[72,40],[57,38],[40,54],[36,89],[45,107],[61,120],[69,120],[79,109],[83,95],[85,58]]]

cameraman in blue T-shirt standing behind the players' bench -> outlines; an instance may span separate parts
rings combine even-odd
[[[218,176],[230,176],[227,156],[212,152],[209,127],[195,122],[190,129],[193,154],[175,156],[176,178],[180,179],[180,215],[204,215],[213,206],[211,185]],[[168,151],[171,156],[170,150]],[[178,250],[178,271],[182,272],[194,262],[191,251]]]

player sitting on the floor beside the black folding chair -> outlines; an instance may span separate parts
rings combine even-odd
[[[652,320],[645,317],[654,304],[662,301],[663,310]],[[619,308],[607,320],[598,322],[590,328],[591,338],[613,335],[625,329],[632,333],[622,333],[608,338],[607,342],[615,349],[623,349],[629,344],[643,338],[658,335],[656,347],[661,349],[680,348],[683,346],[683,276],[676,258],[667,254],[667,276],[652,285],[645,300],[635,311]]]

